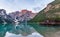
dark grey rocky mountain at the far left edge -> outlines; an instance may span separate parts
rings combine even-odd
[[[0,23],[12,23],[13,19],[11,16],[6,14],[6,10],[0,9]]]

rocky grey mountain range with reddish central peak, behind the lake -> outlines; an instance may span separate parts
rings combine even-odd
[[[6,10],[0,9],[0,23],[17,23],[23,22],[24,20],[31,20],[36,16],[36,13],[32,13],[29,10],[15,11],[6,14]]]

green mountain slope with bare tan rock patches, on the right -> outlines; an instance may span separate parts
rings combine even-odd
[[[30,22],[42,22],[46,20],[60,20],[60,0],[49,3]]]

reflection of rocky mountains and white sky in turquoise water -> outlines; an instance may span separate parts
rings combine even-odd
[[[21,36],[20,36],[21,35]],[[43,37],[30,25],[0,24],[0,37]]]

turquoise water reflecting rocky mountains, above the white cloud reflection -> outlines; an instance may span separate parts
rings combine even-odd
[[[14,34],[22,34],[28,35],[33,33],[35,30],[30,25],[26,25],[24,23],[19,25],[14,24],[0,24],[0,37],[4,37],[6,32],[14,33]]]

